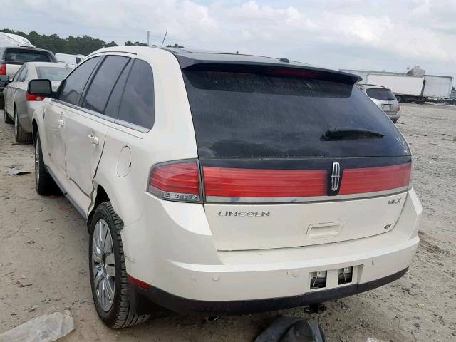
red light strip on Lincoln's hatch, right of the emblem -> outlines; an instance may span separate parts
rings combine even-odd
[[[343,170],[339,195],[407,188],[411,163]]]

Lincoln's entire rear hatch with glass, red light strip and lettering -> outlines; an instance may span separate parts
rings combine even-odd
[[[393,229],[410,150],[343,73],[261,65],[182,70],[202,197],[219,250],[340,242]]]

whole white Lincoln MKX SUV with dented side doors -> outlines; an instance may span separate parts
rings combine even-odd
[[[100,318],[237,314],[400,278],[422,207],[410,149],[358,76],[150,47],[90,54],[33,114],[36,190],[86,217]]]

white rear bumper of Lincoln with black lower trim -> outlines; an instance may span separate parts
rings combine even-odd
[[[147,311],[152,301],[174,311],[237,314],[368,291],[398,279],[408,269],[419,243],[421,212],[420,201],[410,190],[390,232],[331,244],[232,252],[215,250],[211,235],[204,232],[181,228],[175,234],[172,224],[167,224],[167,229],[160,229],[167,239],[161,239],[160,234],[152,237],[150,225],[140,234],[133,232],[142,224],[131,225],[122,232],[127,271],[150,284],[147,290],[134,288],[132,300],[139,312]],[[188,214],[178,222],[187,222]],[[197,215],[192,214],[190,227],[195,227]],[[132,234],[125,234],[129,229]],[[155,241],[152,248],[145,244],[147,232],[149,241]],[[352,281],[338,284],[338,271],[344,267],[353,267]],[[311,289],[311,273],[316,271],[327,272],[323,289]]]

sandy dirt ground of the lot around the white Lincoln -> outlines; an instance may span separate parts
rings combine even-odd
[[[403,105],[398,128],[410,142],[414,186],[423,202],[421,244],[402,279],[301,309],[246,316],[167,313],[113,331],[100,322],[88,279],[88,233],[63,196],[34,189],[33,146],[16,145],[0,111],[0,332],[70,309],[76,329],[61,341],[252,341],[279,314],[314,318],[330,341],[456,341],[456,108]],[[10,176],[11,167],[28,175]]]

